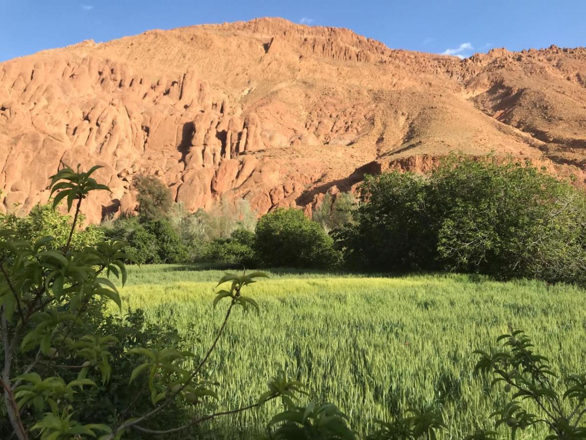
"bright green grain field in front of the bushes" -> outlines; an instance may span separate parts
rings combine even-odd
[[[131,267],[123,304],[144,309],[150,320],[174,322],[203,353],[227,307],[212,308],[223,273]],[[440,438],[462,439],[476,427],[492,427],[488,415],[503,401],[502,392],[472,374],[472,352],[494,346],[509,324],[533,337],[555,371],[584,370],[586,291],[574,286],[465,275],[267,273],[270,279],[243,292],[257,300],[260,314],[236,309],[210,359],[222,409],[254,401],[285,370],[309,384],[313,400],[338,404],[359,432],[400,409],[441,405],[449,429]],[[213,437],[247,438],[274,410],[215,422]],[[543,436],[527,431],[517,439]]]

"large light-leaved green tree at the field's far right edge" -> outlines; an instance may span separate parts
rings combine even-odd
[[[525,164],[451,157],[430,177],[428,218],[448,269],[584,279],[586,197]]]

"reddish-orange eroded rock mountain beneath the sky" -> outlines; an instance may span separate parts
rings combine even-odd
[[[104,165],[91,221],[158,175],[186,208],[311,207],[365,172],[437,157],[530,158],[583,182],[586,49],[460,60],[347,29],[255,19],[84,41],[0,63],[4,211],[46,202],[63,164]]]

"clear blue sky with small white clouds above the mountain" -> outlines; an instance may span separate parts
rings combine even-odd
[[[586,46],[586,0],[0,0],[0,61],[148,29],[280,16],[340,26],[390,48],[469,56]]]

